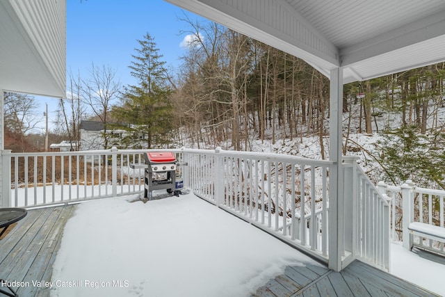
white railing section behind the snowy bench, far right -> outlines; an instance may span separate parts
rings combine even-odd
[[[410,248],[408,225],[419,222],[427,225],[445,227],[445,191],[420,188],[407,180],[401,186],[390,186],[379,182],[381,193],[393,198],[391,205],[391,236],[394,241],[403,241],[405,248]],[[444,243],[433,239],[417,238],[416,243],[422,248],[445,255]]]

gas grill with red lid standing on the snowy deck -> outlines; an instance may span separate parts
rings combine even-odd
[[[133,164],[131,168],[145,169],[144,198],[153,199],[153,191],[167,190],[167,193],[179,196],[184,182],[179,174],[180,163],[172,152],[145,152],[143,154],[145,164]]]

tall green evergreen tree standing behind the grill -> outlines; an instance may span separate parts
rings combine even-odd
[[[147,33],[138,42],[140,48],[135,49],[129,66],[138,84],[124,88],[124,104],[116,107],[113,114],[129,131],[122,146],[137,148],[144,142],[143,147],[152,148],[168,143],[172,131],[172,88],[154,38]]]

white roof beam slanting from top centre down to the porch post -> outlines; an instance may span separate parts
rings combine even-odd
[[[263,6],[259,8],[264,9],[264,11],[261,11],[260,17],[248,15],[248,13],[234,7],[235,5],[230,6],[226,1],[222,0],[165,1],[211,19],[213,22],[222,24],[229,29],[248,35],[277,49],[286,51],[293,56],[302,58],[311,65],[318,65],[320,69],[330,70],[334,67],[339,67],[339,51],[337,47],[284,0],[254,0],[257,6]],[[245,3],[245,0],[237,1],[234,1],[234,3],[238,3],[239,6],[249,6],[248,3]],[[266,6],[275,8],[266,10]],[[256,6],[251,5],[251,7]],[[290,14],[284,16],[282,15],[283,13]],[[279,24],[280,22],[287,23],[284,25]],[[294,24],[292,28],[289,28],[289,22]],[[292,31],[293,35],[285,32],[286,29]]]

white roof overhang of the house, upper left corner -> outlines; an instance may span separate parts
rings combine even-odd
[[[0,89],[66,97],[65,0],[0,1]]]

